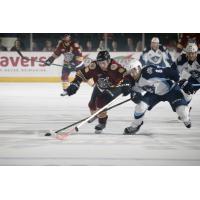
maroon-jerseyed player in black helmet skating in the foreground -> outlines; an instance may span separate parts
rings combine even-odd
[[[122,84],[125,73],[126,69],[111,59],[108,51],[100,51],[96,61],[76,73],[74,81],[65,90],[66,95],[75,94],[82,81],[93,78],[95,85],[88,104],[90,112],[93,114],[119,94],[129,94],[129,86]],[[108,115],[106,112],[102,112],[97,117],[99,124],[95,126],[95,133],[98,134],[106,127]]]

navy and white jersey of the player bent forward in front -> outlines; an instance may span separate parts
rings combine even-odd
[[[178,80],[179,74],[176,69],[148,65],[142,69],[134,90],[136,91],[138,87],[143,91],[161,96],[170,92]]]

